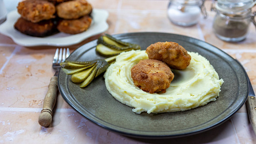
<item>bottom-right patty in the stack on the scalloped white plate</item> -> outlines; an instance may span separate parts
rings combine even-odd
[[[89,16],[84,16],[77,20],[61,20],[57,26],[60,32],[67,34],[78,34],[87,30],[92,19]]]

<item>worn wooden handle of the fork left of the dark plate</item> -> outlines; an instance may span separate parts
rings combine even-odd
[[[53,76],[48,85],[48,91],[44,97],[43,110],[38,118],[38,123],[47,127],[52,122],[52,110],[56,102],[58,90],[58,77]]]

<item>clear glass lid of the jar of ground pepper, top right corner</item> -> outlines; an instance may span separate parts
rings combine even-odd
[[[238,12],[250,9],[256,4],[256,0],[217,0],[217,10],[224,12]]]

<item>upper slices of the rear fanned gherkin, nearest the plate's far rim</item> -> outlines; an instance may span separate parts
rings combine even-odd
[[[101,36],[98,41],[98,44],[102,43],[109,48],[116,49],[116,50],[127,50],[127,49],[141,49],[140,45],[135,43],[129,43],[121,40],[117,40],[116,38],[106,34],[105,36]]]

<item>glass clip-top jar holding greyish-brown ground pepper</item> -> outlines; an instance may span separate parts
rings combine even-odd
[[[255,24],[252,7],[253,0],[217,0],[215,4],[216,15],[213,20],[213,32],[223,41],[243,41],[251,21]]]

